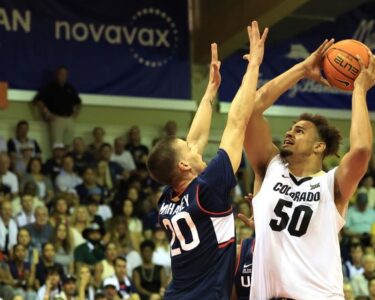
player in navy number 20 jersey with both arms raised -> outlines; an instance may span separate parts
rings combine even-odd
[[[229,299],[235,268],[234,217],[229,200],[235,186],[245,129],[254,106],[264,42],[257,22],[248,27],[250,56],[242,84],[231,104],[217,155],[207,166],[212,104],[220,85],[220,62],[212,45],[210,80],[186,141],[167,137],[152,149],[151,176],[167,185],[159,216],[171,244],[172,281],[165,299]]]

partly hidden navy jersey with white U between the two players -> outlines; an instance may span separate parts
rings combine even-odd
[[[234,286],[237,300],[249,300],[251,287],[251,273],[253,270],[254,239],[241,241],[241,250],[237,260]]]

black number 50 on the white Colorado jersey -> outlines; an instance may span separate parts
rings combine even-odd
[[[303,236],[307,231],[307,227],[309,227],[313,210],[307,205],[299,205],[293,210],[290,220],[289,215],[283,211],[284,206],[292,207],[293,202],[279,199],[274,209],[275,215],[279,217],[279,219],[271,219],[270,226],[272,230],[282,231],[288,227],[290,235],[297,237]],[[302,214],[302,220],[300,220]]]

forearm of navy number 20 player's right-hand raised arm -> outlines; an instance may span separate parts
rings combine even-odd
[[[228,113],[228,123],[245,128],[254,109],[256,86],[259,76],[259,64],[249,63],[245,76]]]

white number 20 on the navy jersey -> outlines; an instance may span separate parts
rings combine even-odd
[[[185,237],[182,235],[180,227],[178,226],[179,220],[185,220],[186,224],[190,228],[192,241],[186,243]],[[172,221],[172,222],[171,222]],[[193,250],[197,247],[200,243],[197,227],[195,226],[193,219],[191,218],[190,214],[186,211],[180,212],[177,215],[173,216],[173,218],[169,221],[169,219],[163,219],[163,224],[165,228],[168,228],[172,232],[172,239],[171,239],[171,256],[181,254],[181,249],[184,251]],[[176,241],[176,236],[178,241],[180,242],[180,247],[173,248],[173,244]]]

